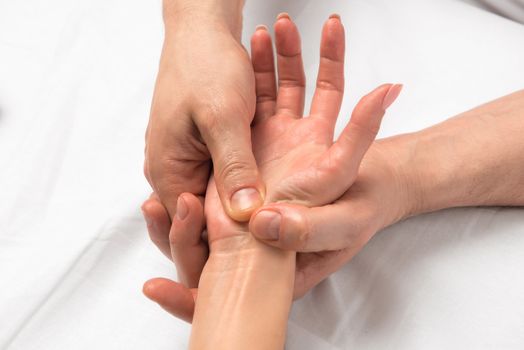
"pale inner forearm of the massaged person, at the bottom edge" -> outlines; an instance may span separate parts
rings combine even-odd
[[[250,238],[212,253],[199,283],[191,349],[282,349],[295,253]]]

